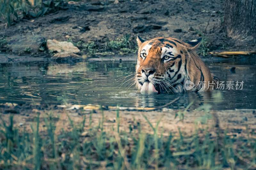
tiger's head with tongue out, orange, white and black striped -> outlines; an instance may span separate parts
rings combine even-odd
[[[188,79],[190,54],[201,38],[185,43],[171,37],[144,40],[137,36],[139,46],[135,81],[141,94],[180,92]]]

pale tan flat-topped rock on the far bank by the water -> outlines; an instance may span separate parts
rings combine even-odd
[[[76,46],[74,46],[71,42],[67,42],[67,41],[57,41],[54,39],[47,40],[46,46],[48,50],[57,51],[57,52],[61,52],[61,51],[68,51],[73,53],[80,52],[80,50]]]

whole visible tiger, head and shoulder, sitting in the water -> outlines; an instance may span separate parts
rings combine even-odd
[[[202,38],[183,42],[172,37],[137,36],[135,83],[141,94],[209,91],[219,79],[196,53]],[[191,87],[188,87],[191,84]]]

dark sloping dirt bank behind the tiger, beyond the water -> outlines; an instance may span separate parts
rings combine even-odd
[[[129,34],[135,38],[172,36],[189,41],[204,36],[211,51],[253,50],[255,44],[244,44],[226,37],[222,0],[79,1],[58,11],[31,20],[21,19],[12,27],[0,28],[7,40],[18,35],[40,35],[45,39],[95,42],[98,49],[110,40]],[[69,38],[67,38],[67,35]]]

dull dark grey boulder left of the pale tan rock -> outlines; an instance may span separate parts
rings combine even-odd
[[[45,42],[45,38],[39,35],[13,36],[8,47],[15,54],[36,53]]]

